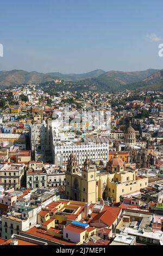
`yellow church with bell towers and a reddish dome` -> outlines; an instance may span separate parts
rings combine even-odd
[[[113,198],[120,202],[123,194],[140,191],[148,186],[148,178],[137,176],[135,163],[124,163],[117,154],[106,166],[84,162],[82,173],[76,156],[72,153],[67,161],[66,198],[96,203],[101,199]]]

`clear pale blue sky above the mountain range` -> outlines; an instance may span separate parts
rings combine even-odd
[[[163,69],[162,0],[0,0],[0,70]]]

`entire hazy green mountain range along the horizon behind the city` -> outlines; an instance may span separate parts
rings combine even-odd
[[[85,84],[89,89],[104,92],[120,92],[125,89],[153,89],[163,90],[163,70],[148,69],[145,71],[108,71],[97,69],[85,74],[61,74],[51,72],[47,74],[36,71],[27,72],[24,70],[0,71],[0,87],[7,88],[18,84],[39,84],[61,78],[65,81]]]

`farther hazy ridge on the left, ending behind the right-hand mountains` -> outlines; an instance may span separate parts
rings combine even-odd
[[[0,87],[12,87],[18,84],[44,83],[55,78],[76,82],[86,78],[95,78],[104,74],[105,71],[97,69],[85,74],[61,74],[59,72],[39,73],[36,71],[27,72],[24,70],[0,71]]]

